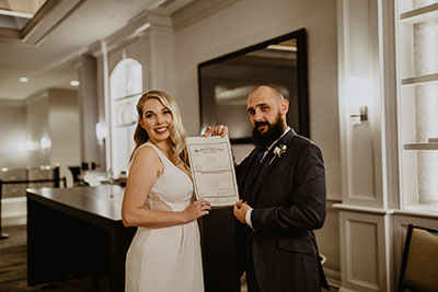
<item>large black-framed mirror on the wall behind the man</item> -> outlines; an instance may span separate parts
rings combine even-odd
[[[288,125],[309,137],[306,30],[198,65],[200,125],[227,125],[231,143],[251,143],[246,97],[258,84],[280,89],[289,100]]]

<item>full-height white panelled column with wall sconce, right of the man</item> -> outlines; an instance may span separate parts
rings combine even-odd
[[[399,197],[394,10],[385,0],[337,4],[341,291],[392,291],[391,208]],[[360,107],[367,108],[365,120],[357,117]]]

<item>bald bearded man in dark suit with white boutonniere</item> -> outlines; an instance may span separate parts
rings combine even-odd
[[[328,289],[313,230],[325,219],[325,174],[321,150],[287,126],[289,103],[272,85],[247,97],[256,148],[237,166],[237,236],[250,292]],[[206,136],[226,135],[207,128]],[[239,243],[238,243],[239,245]]]

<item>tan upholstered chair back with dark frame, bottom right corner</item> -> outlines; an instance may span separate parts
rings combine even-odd
[[[399,291],[438,292],[438,230],[407,227]]]

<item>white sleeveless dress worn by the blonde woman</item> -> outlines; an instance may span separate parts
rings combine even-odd
[[[182,211],[191,205],[193,183],[154,144],[147,142],[163,163],[146,207]],[[140,149],[139,148],[139,149]],[[138,227],[126,255],[126,292],[204,291],[200,236],[197,221],[170,227]]]

